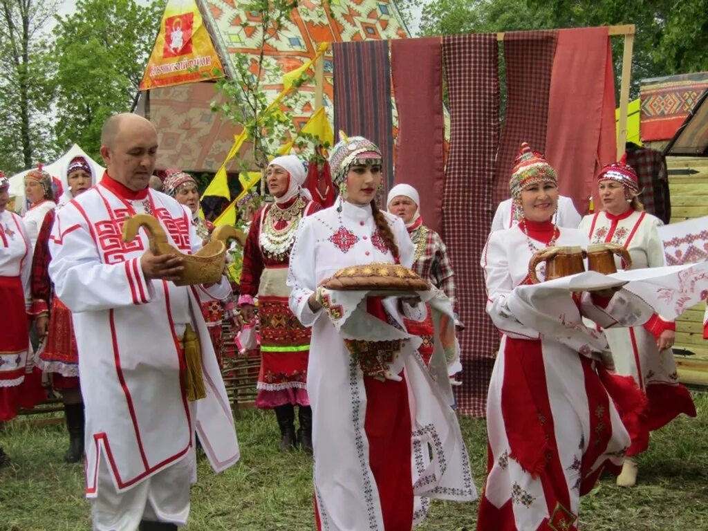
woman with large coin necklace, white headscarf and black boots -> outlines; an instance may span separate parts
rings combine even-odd
[[[263,205],[253,216],[244,248],[239,307],[249,319],[258,297],[261,371],[256,407],[275,409],[281,451],[299,442],[303,450],[312,453],[312,409],[307,396],[310,331],[290,312],[290,287],[285,285],[297,225],[320,210],[319,203],[301,188],[306,177],[305,166],[295,155],[278,156],[268,165],[266,181],[275,202]]]

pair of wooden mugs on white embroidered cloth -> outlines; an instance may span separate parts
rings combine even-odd
[[[632,258],[627,249],[619,244],[593,244],[585,251],[582,247],[547,247],[536,251],[529,262],[529,278],[534,284],[540,282],[536,275],[539,263],[546,263],[546,280],[567,277],[585,271],[583,260],[588,258],[588,269],[604,275],[617,273],[615,256],[622,258],[625,269],[632,268]]]

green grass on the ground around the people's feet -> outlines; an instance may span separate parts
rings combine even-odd
[[[619,489],[608,477],[583,498],[582,530],[708,530],[708,394],[694,396],[698,417],[679,418],[653,435],[636,488]],[[460,423],[481,493],[486,425],[470,418]],[[313,530],[311,459],[302,452],[277,451],[272,413],[244,411],[236,429],[242,455],[238,464],[217,475],[200,458],[186,529]],[[0,433],[0,445],[13,459],[10,467],[0,469],[0,531],[91,528],[84,469],[62,463],[66,443],[63,426],[38,427],[24,419]],[[476,502],[433,501],[428,519],[416,530],[474,530],[476,512]]]

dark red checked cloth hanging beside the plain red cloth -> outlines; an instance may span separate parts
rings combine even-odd
[[[501,134],[493,202],[509,197],[509,177],[521,142],[531,149],[546,149],[548,98],[551,89],[555,31],[518,31],[504,35],[506,112]]]

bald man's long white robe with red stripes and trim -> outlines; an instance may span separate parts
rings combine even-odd
[[[130,243],[122,224],[135,212],[159,219],[169,244],[183,253],[201,246],[176,200],[148,190],[131,201],[106,179],[57,212],[52,229],[50,276],[57,296],[72,310],[86,404],[86,493],[95,497],[100,459],[106,459],[118,492],[178,462],[194,445],[219,471],[239,459],[232,411],[200,299],[221,299],[222,280],[206,290],[149,280],[140,267],[148,249],[140,229]],[[207,293],[208,292],[208,293]],[[190,324],[198,333],[207,396],[188,402],[178,337]],[[188,479],[187,479],[188,481]]]

